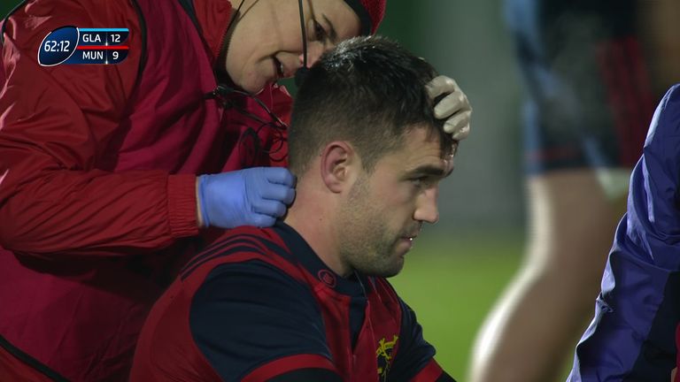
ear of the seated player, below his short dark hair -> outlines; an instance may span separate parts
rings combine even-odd
[[[360,166],[359,155],[347,141],[332,141],[321,152],[321,180],[331,192],[352,187]]]

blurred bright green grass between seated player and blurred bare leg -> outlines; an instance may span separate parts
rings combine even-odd
[[[453,378],[466,378],[475,334],[517,270],[522,245],[521,234],[423,235],[406,255],[404,271],[390,279]]]

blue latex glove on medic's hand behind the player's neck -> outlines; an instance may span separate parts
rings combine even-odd
[[[286,213],[295,198],[295,177],[282,167],[254,167],[201,175],[198,205],[204,226],[266,227]]]

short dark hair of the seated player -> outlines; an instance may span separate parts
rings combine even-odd
[[[452,153],[452,137],[435,118],[425,85],[437,72],[397,42],[379,36],[341,42],[316,62],[298,89],[290,124],[290,170],[299,175],[331,141],[350,141],[367,171],[404,144],[415,127],[429,129]]]

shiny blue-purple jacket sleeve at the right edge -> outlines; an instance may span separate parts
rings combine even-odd
[[[680,321],[680,86],[654,113],[630,178],[595,317],[569,381],[670,380]]]

